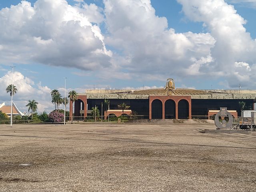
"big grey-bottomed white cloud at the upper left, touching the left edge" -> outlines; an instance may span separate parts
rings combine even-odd
[[[84,12],[66,0],[21,1],[0,10],[0,62],[42,63],[94,70],[109,67],[111,51],[92,13],[100,20],[95,5]],[[102,19],[101,19],[102,20]]]

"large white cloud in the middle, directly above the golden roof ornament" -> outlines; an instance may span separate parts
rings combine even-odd
[[[156,16],[150,0],[104,0],[104,4],[110,33],[105,41],[118,50],[113,63],[121,61],[118,67],[130,76],[191,74],[188,69],[195,63],[197,73],[212,61],[210,50],[216,40],[209,33],[176,33],[165,17]]]

